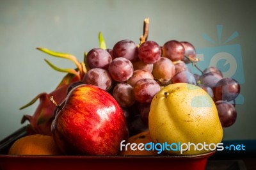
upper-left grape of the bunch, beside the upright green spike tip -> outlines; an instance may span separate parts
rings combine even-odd
[[[108,66],[111,61],[111,55],[104,49],[95,48],[90,50],[86,55],[86,65],[89,69],[103,68],[108,70]]]

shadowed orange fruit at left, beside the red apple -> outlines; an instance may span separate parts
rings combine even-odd
[[[12,144],[8,155],[61,155],[50,135],[27,135]]]

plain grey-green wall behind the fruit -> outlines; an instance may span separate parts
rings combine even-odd
[[[19,111],[38,93],[51,92],[64,73],[44,62],[74,67],[69,61],[51,58],[36,47],[74,54],[98,47],[102,31],[109,48],[123,39],[139,43],[143,19],[150,17],[150,35],[163,45],[186,40],[196,48],[216,47],[203,33],[218,42],[216,26],[223,25],[222,40],[237,31],[228,44],[240,44],[245,82],[244,103],[237,105],[237,121],[224,129],[224,139],[256,139],[255,61],[256,24],[253,1],[0,1],[0,139],[22,125],[23,114],[33,114],[36,104]]]

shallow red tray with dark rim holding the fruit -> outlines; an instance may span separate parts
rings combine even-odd
[[[25,127],[0,141],[0,169],[143,169],[145,167],[170,169],[205,169],[207,159],[215,151],[189,156],[35,156],[7,155],[8,148],[20,137],[26,135]]]

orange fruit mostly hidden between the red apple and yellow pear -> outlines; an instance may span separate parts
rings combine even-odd
[[[135,144],[146,144],[150,143],[152,141],[149,131],[141,132],[140,134],[132,135],[127,139],[126,143],[135,143]],[[125,150],[125,147],[122,148],[122,151],[120,151],[119,155],[158,155],[156,150],[131,150],[131,147],[127,147],[127,150]]]

